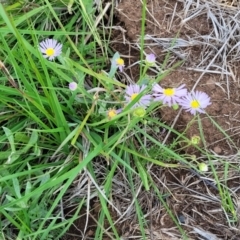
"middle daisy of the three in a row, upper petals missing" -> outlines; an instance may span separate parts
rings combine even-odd
[[[181,97],[187,94],[187,89],[184,88],[185,84],[178,88],[162,88],[158,84],[153,85],[153,97],[155,101],[162,101],[163,104],[167,104],[169,107],[178,104]]]

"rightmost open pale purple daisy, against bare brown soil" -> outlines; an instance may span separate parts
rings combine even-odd
[[[185,97],[181,99],[179,104],[187,112],[196,115],[197,112],[205,113],[204,109],[211,104],[210,97],[200,91],[187,93]]]

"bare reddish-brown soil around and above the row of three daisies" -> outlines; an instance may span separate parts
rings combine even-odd
[[[180,29],[180,20],[179,18],[174,18],[172,23],[172,28],[169,29],[168,24],[172,16],[174,6],[176,4],[175,0],[158,0],[158,1],[147,1],[148,9],[152,10],[151,15],[147,16],[146,24],[146,34],[154,35],[157,37],[175,37]],[[182,5],[179,3],[177,5],[176,11],[182,10]],[[137,61],[139,59],[139,53],[136,52],[136,49],[131,49],[131,43],[136,42],[139,38],[141,32],[141,2],[140,1],[122,1],[121,4],[117,7],[117,16],[120,20],[120,23],[125,26],[127,39],[129,42],[126,44],[117,44],[114,43],[114,49],[118,50],[121,54],[130,56],[129,64]],[[154,19],[154,21],[153,21]],[[207,34],[211,31],[211,26],[207,21],[205,16],[198,17],[190,21],[186,26],[183,26],[180,30],[179,37],[186,38],[187,36],[194,36],[196,31],[200,35]],[[119,32],[115,33],[119,36]],[[121,35],[115,42],[121,41]],[[129,51],[130,49],[130,51]],[[146,52],[155,53],[158,58],[157,60],[161,63],[163,62],[166,52],[163,51],[159,46],[146,49]],[[189,62],[184,63],[178,69],[175,69],[161,81],[161,85],[164,87],[177,87],[181,84],[186,84],[187,88],[191,90],[196,80],[199,78],[201,73],[186,70],[187,67],[191,67],[191,62],[196,63],[197,59],[200,58],[202,49],[192,48],[189,49]],[[178,60],[178,59],[176,59]],[[127,63],[128,64],[128,63]],[[215,150],[217,154],[233,154],[236,153],[237,149],[240,147],[240,131],[239,131],[239,119],[240,119],[240,83],[239,83],[239,73],[240,70],[235,68],[234,75],[236,76],[235,81],[230,80],[228,86],[226,86],[226,79],[221,78],[220,75],[208,74],[204,75],[201,78],[200,83],[197,86],[197,90],[206,92],[212,100],[212,105],[207,108],[207,113],[214,118],[218,125],[226,131],[229,136],[232,136],[232,139],[235,143],[228,144],[224,140],[224,135],[220,133],[219,129],[214,127],[208,118],[204,115],[202,116],[202,126],[204,130],[204,137],[206,140],[207,146],[210,149]],[[132,67],[129,69],[130,76],[137,80],[139,69],[138,67]],[[227,87],[229,90],[227,90]],[[229,96],[227,91],[230,92]],[[177,112],[173,111],[170,108],[163,108],[161,110],[162,121],[168,125],[172,124],[173,119],[177,116]],[[175,128],[179,131],[186,129],[186,126],[193,117],[191,114],[182,112],[178,122],[175,125]],[[199,135],[197,123],[193,123],[192,126],[186,132],[186,136],[191,138],[193,135]]]

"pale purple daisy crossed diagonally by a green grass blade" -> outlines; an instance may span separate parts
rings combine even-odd
[[[145,85],[139,86],[137,84],[131,84],[129,86],[127,86],[126,88],[126,95],[125,95],[125,99],[127,101],[127,103],[130,103],[131,101],[133,101],[138,94],[140,94],[144,89],[146,88]],[[147,107],[150,105],[152,100],[152,96],[149,94],[143,95],[134,105],[133,108],[136,107]]]

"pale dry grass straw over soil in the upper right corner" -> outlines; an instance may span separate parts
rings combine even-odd
[[[182,2],[183,10],[176,12],[176,6]],[[240,13],[238,8],[219,4],[218,1],[184,0],[176,3],[172,19],[181,18],[180,28],[188,28],[193,19],[205,17],[211,31],[201,35],[197,30],[195,36],[186,38],[158,38],[150,35],[145,40],[151,40],[151,45],[160,46],[165,52],[171,51],[177,58],[186,62],[189,70],[220,75],[233,76],[232,65],[239,61],[240,52]],[[171,21],[172,23],[172,21]],[[172,24],[171,24],[172,25]],[[190,27],[189,27],[190,28]],[[174,42],[174,45],[172,43]],[[201,49],[199,61],[192,61],[191,49]],[[199,83],[196,82],[194,88]]]

